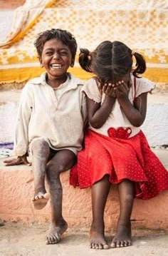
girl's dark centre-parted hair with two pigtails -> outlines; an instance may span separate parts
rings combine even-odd
[[[134,69],[132,56],[136,59]],[[131,71],[133,76],[139,77],[146,70],[145,58],[120,41],[103,41],[93,52],[80,48],[79,63],[85,71],[95,73],[103,82],[115,83]]]

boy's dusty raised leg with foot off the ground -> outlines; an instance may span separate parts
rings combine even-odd
[[[46,163],[50,148],[46,140],[36,140],[32,145],[33,153],[33,180],[34,196],[32,198],[34,208],[41,210],[48,202],[48,194],[44,185],[46,175]]]

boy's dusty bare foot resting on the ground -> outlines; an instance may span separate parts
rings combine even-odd
[[[46,235],[46,245],[56,244],[60,242],[61,235],[67,230],[68,224],[65,220],[61,221],[61,224],[54,225],[51,224],[51,227],[48,230]]]

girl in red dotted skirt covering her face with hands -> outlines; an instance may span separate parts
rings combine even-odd
[[[70,184],[92,187],[90,247],[95,249],[109,247],[103,214],[110,185],[117,184],[120,217],[111,247],[129,246],[134,198],[149,199],[168,189],[167,170],[140,129],[147,111],[147,93],[154,83],[139,76],[146,69],[143,56],[120,41],[104,41],[93,52],[81,48],[79,63],[96,77],[83,88],[89,128],[78,164],[70,172]]]

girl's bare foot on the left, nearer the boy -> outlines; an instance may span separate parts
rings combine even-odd
[[[104,225],[103,225],[104,226]],[[90,228],[90,248],[91,249],[109,249],[107,241],[105,240],[104,227]]]

